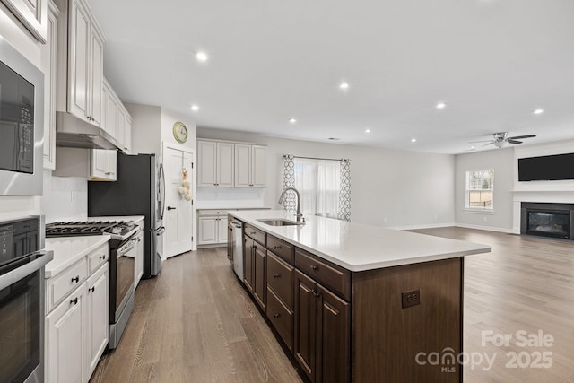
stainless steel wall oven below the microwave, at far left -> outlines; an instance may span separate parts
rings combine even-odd
[[[39,219],[0,224],[0,381],[44,381],[44,265]]]

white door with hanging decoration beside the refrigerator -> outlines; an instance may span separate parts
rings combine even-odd
[[[165,213],[163,225],[163,257],[169,258],[190,251],[193,248],[193,199],[187,201],[179,194],[182,170],[187,170],[193,196],[193,156],[190,152],[165,147],[163,170],[165,172]]]

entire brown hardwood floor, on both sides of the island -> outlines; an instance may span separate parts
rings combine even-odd
[[[574,243],[463,228],[417,232],[492,247],[465,257],[464,352],[494,358],[490,369],[484,359],[465,365],[465,382],[574,383]],[[91,382],[300,382],[225,253],[170,258],[159,277],[142,281],[126,333]],[[518,330],[542,330],[553,344],[520,347]],[[483,345],[483,331],[512,339]],[[542,352],[552,352],[551,368],[519,367]],[[517,353],[517,368],[506,367],[507,353]]]

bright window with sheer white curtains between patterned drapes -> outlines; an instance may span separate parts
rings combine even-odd
[[[295,158],[295,188],[300,192],[301,213],[337,218],[341,164],[339,161]]]

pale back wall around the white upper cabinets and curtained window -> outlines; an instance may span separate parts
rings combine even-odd
[[[283,154],[351,159],[352,221],[390,227],[448,225],[455,220],[454,156],[327,144],[265,137],[199,127],[198,138],[267,145],[265,189],[197,189],[199,206],[229,206],[234,196],[243,204],[280,208]],[[247,205],[247,204],[246,204]]]

